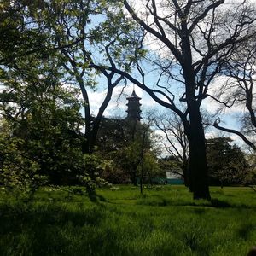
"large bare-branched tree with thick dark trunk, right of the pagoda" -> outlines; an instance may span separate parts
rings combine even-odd
[[[224,0],[160,3],[150,0],[135,9],[126,0],[122,3],[131,19],[148,34],[147,43],[153,40],[160,46],[160,55],[154,61],[160,76],[152,88],[139,61],[137,69],[141,79],[113,65],[104,68],[130,79],[182,119],[189,140],[190,189],[195,199],[210,199],[201,102],[210,96],[208,88],[219,73],[222,62],[232,54],[234,45],[241,44],[255,33],[253,6],[246,1],[225,8]],[[152,58],[154,55],[150,56]],[[90,67],[96,66],[92,64]],[[102,70],[103,67],[97,68]],[[182,90],[179,101],[185,102],[184,111],[178,106],[176,91],[168,86],[170,80],[176,81]]]

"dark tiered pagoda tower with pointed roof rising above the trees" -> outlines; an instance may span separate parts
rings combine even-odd
[[[128,107],[128,109],[126,110],[127,112],[127,118],[128,120],[134,120],[134,121],[140,121],[141,118],[141,103],[140,100],[142,98],[140,98],[139,96],[137,96],[137,94],[135,93],[135,90],[132,91],[131,96],[128,96],[126,98],[128,100],[128,103],[126,104],[126,106]]]

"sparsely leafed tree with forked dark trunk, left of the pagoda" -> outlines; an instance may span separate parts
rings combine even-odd
[[[5,37],[0,40],[0,61],[13,63],[13,49],[17,58],[38,55],[44,61],[55,55],[61,60],[65,79],[78,86],[83,96],[83,151],[92,152],[104,110],[123,76],[91,71],[88,65],[115,61],[117,67],[130,69],[132,56],[140,55],[141,33],[135,23],[125,19],[121,11],[113,14],[113,4],[101,0],[4,1],[1,8],[0,30]],[[98,80],[104,81],[107,93],[96,117],[92,117],[88,88],[95,90]]]

